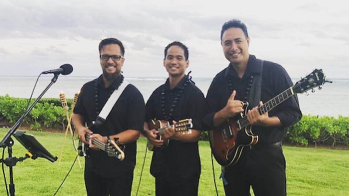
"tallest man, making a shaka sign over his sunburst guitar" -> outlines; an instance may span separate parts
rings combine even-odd
[[[284,128],[299,121],[302,113],[296,95],[287,100],[278,99],[277,106],[269,112],[260,111],[258,107],[289,89],[292,81],[281,65],[250,55],[249,43],[247,28],[241,21],[228,21],[222,26],[221,45],[230,63],[210,85],[203,121],[213,130],[210,142],[216,160],[223,166],[221,177],[226,195],[250,195],[252,186],[256,196],[282,196],[286,195],[286,165],[281,140]],[[244,111],[245,121],[226,126]],[[244,129],[244,123],[252,125],[252,130]],[[242,130],[236,132],[236,127]],[[238,148],[224,143],[231,138],[241,139],[243,135],[250,139]],[[223,138],[222,144],[215,140],[218,137]],[[235,146],[238,139],[231,146]],[[220,145],[227,151],[215,151]],[[219,159],[221,152],[222,160]]]

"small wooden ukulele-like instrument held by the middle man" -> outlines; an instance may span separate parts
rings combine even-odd
[[[184,119],[184,120],[179,120],[176,125],[170,125],[169,121],[166,120],[150,120],[148,123],[149,130],[155,129],[158,131],[156,139],[157,140],[163,140],[164,144],[161,147],[155,147],[153,144],[148,139],[148,149],[151,151],[159,151],[163,150],[166,146],[169,145],[170,140],[164,139],[163,134],[166,128],[172,126],[174,131],[176,132],[181,132],[183,134],[191,134],[192,130],[191,128],[193,127],[192,124],[192,119]]]

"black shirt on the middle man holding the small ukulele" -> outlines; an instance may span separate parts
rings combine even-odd
[[[170,89],[169,79],[167,79],[165,84],[155,89],[146,104],[145,120],[147,122],[151,119],[165,120],[161,106],[162,93],[164,92],[165,97],[165,115],[168,116],[173,101],[184,87],[186,80],[187,76],[184,76],[176,87]],[[172,120],[191,118],[193,129],[202,130],[201,119],[205,115],[205,98],[200,89],[192,82],[187,84],[169,121],[172,124]],[[165,90],[163,91],[163,89]],[[195,175],[199,177],[200,171],[198,142],[170,140],[169,146],[163,151],[153,153],[150,173],[163,183],[178,185]]]

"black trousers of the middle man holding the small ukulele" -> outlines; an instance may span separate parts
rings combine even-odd
[[[197,196],[199,177],[193,177],[177,186],[169,186],[155,178],[156,196]]]

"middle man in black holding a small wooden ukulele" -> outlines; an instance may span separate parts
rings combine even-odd
[[[198,140],[205,115],[205,98],[185,75],[188,48],[175,41],[165,47],[166,83],[151,94],[146,104],[143,134],[154,150],[150,173],[157,196],[198,195],[200,157]]]

